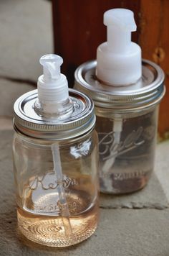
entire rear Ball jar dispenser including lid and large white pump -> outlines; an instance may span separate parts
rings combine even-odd
[[[132,11],[110,9],[104,24],[107,42],[97,47],[97,60],[77,68],[74,88],[95,102],[101,191],[130,193],[143,188],[153,171],[164,73],[142,60],[140,46],[131,41]]]

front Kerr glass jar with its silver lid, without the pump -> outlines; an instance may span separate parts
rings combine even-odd
[[[37,90],[14,104],[18,226],[28,239],[66,247],[90,237],[98,221],[97,133],[92,101],[69,90],[59,119],[37,114]]]

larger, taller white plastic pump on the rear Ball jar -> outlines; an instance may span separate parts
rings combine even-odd
[[[110,9],[104,14],[107,42],[97,47],[96,75],[109,85],[129,85],[142,75],[141,49],[131,42],[136,31],[133,12],[128,9]]]

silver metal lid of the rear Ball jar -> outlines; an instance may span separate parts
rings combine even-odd
[[[74,88],[90,96],[95,106],[128,111],[159,103],[165,94],[164,73],[155,63],[143,60],[143,76],[127,86],[107,85],[95,76],[95,60],[84,63],[74,73]]]

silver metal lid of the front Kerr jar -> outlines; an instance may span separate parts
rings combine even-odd
[[[62,118],[40,116],[34,110],[37,90],[20,96],[14,104],[14,128],[30,137],[67,140],[89,132],[95,125],[94,104],[76,90],[69,89],[73,110]]]

